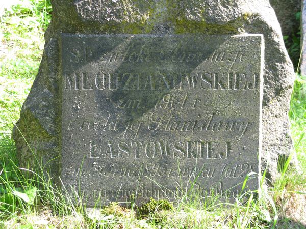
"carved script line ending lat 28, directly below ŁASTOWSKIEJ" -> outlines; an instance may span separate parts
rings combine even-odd
[[[65,168],[63,174],[69,177],[84,178],[90,177],[127,177],[127,178],[139,178],[139,177],[168,177],[172,179],[180,177],[192,177],[196,175],[198,178],[244,178],[248,173],[256,171],[257,164],[244,163],[236,164],[230,167],[227,163],[222,168],[218,167],[197,167],[192,164],[188,168],[173,168],[171,165],[165,163],[142,163],[137,166],[135,163],[131,163],[131,166],[120,166],[118,163],[98,163],[93,162],[91,169],[88,171],[81,170],[81,168]]]

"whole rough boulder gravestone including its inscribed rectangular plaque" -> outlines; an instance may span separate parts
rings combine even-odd
[[[276,177],[294,72],[268,1],[52,4],[13,132],[21,166],[34,152],[90,206],[173,199],[189,181],[233,199],[260,164]]]

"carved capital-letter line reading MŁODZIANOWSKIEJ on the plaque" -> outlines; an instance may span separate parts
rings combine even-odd
[[[66,90],[254,90],[258,72],[106,73],[65,75]]]

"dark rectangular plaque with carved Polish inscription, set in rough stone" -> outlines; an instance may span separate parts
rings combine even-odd
[[[237,196],[259,172],[263,47],[249,34],[63,34],[64,186],[89,206],[171,200],[193,181]]]

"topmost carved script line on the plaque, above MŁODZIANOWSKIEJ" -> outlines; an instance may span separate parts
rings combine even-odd
[[[138,51],[135,51],[138,50]],[[103,45],[98,45],[95,47],[96,53],[98,53],[97,58],[99,62],[102,63],[124,63],[124,62],[134,62],[134,63],[150,63],[158,61],[169,61],[174,63],[186,62],[186,63],[203,63],[203,62],[226,62],[235,64],[245,61],[245,51],[219,51],[214,50],[210,55],[205,52],[200,51],[189,51],[184,48],[176,47],[174,49],[159,50],[158,54],[154,56],[151,55],[151,47],[145,44],[140,44],[138,47],[135,44],[128,45],[124,51],[111,51],[105,52],[105,47]],[[71,48],[69,51],[69,60],[71,62],[89,62],[94,56],[93,49],[91,47],[85,46],[82,48]]]

